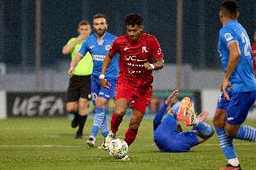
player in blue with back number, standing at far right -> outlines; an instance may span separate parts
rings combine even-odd
[[[256,81],[252,71],[251,43],[247,32],[237,21],[238,7],[234,1],[224,1],[219,17],[218,51],[224,67],[222,94],[214,117],[215,130],[227,159],[222,170],[241,169],[233,148],[233,139],[256,140],[256,130],[242,126],[256,98]]]

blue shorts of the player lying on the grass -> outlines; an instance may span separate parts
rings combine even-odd
[[[187,152],[199,144],[193,131],[178,132],[177,121],[172,115],[167,115],[154,131],[154,142],[161,152]]]

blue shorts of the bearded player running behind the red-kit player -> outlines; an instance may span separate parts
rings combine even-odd
[[[91,77],[91,94],[92,94],[92,101],[96,103],[96,97],[103,97],[105,100],[109,101],[111,98],[114,97],[115,86],[116,86],[116,78],[106,78],[108,83],[110,84],[110,89],[104,88],[100,85],[100,81],[98,76]]]

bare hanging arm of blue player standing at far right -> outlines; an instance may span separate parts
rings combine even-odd
[[[227,87],[231,87],[231,83],[229,81],[229,77],[233,73],[233,70],[235,67],[237,67],[239,58],[240,58],[240,49],[239,49],[239,44],[237,41],[232,41],[228,45],[228,50],[229,50],[229,61],[228,61],[228,66],[226,69],[226,72],[224,74],[224,80],[221,85],[221,90],[224,92],[224,97],[226,100],[230,100],[229,95],[226,93],[225,89]]]

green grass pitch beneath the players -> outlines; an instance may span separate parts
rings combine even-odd
[[[144,119],[137,139],[129,148],[129,162],[108,156],[107,151],[87,148],[92,119],[84,139],[74,139],[68,118],[7,119],[0,121],[0,169],[218,169],[226,164],[216,136],[188,153],[160,153],[152,139],[152,119]],[[117,138],[123,139],[129,120],[121,124]],[[210,122],[211,123],[211,122]],[[245,124],[256,127],[256,121]],[[96,140],[98,147],[103,138]],[[234,142],[243,169],[256,169],[256,144]]]

